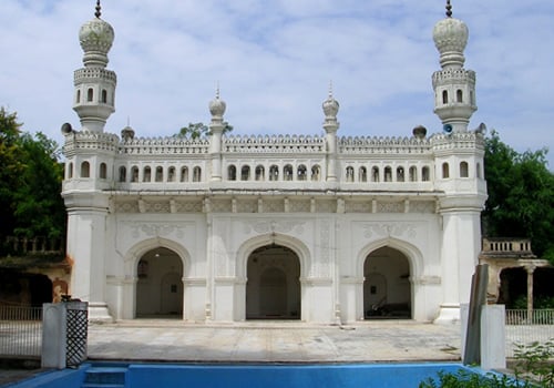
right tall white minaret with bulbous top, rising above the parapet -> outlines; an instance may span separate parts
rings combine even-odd
[[[452,18],[447,1],[447,18],[434,25],[434,45],[440,52],[442,70],[433,73],[434,113],[441,119],[445,133],[465,132],[475,105],[475,72],[465,70],[463,50],[469,31],[465,23]]]

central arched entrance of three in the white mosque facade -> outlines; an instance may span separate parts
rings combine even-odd
[[[246,319],[300,319],[300,261],[291,249],[257,248],[246,272]]]

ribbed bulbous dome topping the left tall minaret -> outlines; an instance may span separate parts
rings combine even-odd
[[[85,65],[106,65],[107,52],[112,48],[115,33],[109,22],[94,18],[79,30],[79,42],[84,51]]]

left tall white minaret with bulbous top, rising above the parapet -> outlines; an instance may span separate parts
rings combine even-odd
[[[114,32],[110,23],[100,19],[100,0],[96,1],[94,19],[84,23],[79,31],[83,49],[84,68],[74,73],[73,110],[81,119],[84,131],[103,132],[104,125],[115,109],[116,75],[106,70],[107,52],[112,48]]]

